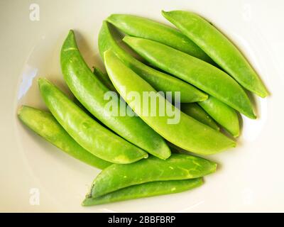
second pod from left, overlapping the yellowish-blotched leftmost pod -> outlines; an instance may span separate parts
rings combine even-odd
[[[47,79],[38,79],[40,94],[50,112],[89,153],[108,162],[127,164],[148,154],[94,121]]]

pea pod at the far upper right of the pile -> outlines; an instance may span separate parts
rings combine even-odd
[[[162,11],[162,14],[239,84],[258,96],[268,95],[266,87],[244,55],[212,24],[201,16],[187,11]]]

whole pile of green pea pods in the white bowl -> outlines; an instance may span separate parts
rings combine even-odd
[[[240,114],[256,118],[247,91],[268,95],[249,62],[212,23],[187,11],[162,14],[178,29],[125,14],[103,21],[98,44],[107,73],[87,66],[70,31],[60,64],[75,99],[40,78],[40,94],[50,112],[31,106],[18,110],[18,117],[35,133],[102,169],[83,206],[202,185],[202,177],[217,170],[204,156],[236,146]],[[118,33],[125,34],[122,41],[140,58],[122,47]],[[104,95],[110,91],[132,116],[109,113]],[[180,108],[165,101],[165,108],[179,114],[180,121],[169,124],[166,116],[139,111],[128,95],[133,91],[141,96],[145,91],[180,92]]]

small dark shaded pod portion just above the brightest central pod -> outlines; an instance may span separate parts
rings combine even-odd
[[[211,128],[219,131],[220,128],[217,126],[217,123],[212,119],[211,116],[207,114],[200,106],[195,103],[192,104],[181,104],[180,109],[183,113],[195,118],[197,121],[204,123]]]

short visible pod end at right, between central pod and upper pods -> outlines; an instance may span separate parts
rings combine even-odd
[[[239,116],[234,109],[213,96],[209,96],[209,99],[205,101],[200,101],[199,104],[204,111],[212,116],[226,131],[231,133],[234,137],[239,136]]]

